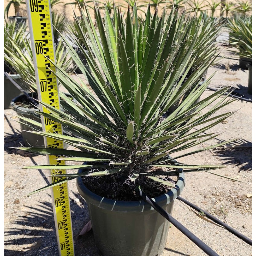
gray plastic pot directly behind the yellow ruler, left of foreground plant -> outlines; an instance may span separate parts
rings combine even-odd
[[[35,97],[32,95],[32,93],[28,93],[29,96],[31,96],[32,98]],[[68,95],[67,93],[65,93],[66,95]],[[24,108],[24,107],[20,107],[17,106],[16,102],[19,102],[21,99],[27,98],[24,94],[15,97],[14,99],[12,99],[11,101],[11,108],[17,113],[18,116],[23,116],[29,119],[32,119],[36,122],[41,123],[41,117],[40,115],[38,115],[35,111],[38,110],[36,108]],[[25,122],[24,120],[20,120]],[[25,122],[26,123],[26,122]],[[37,134],[33,134],[31,132],[27,132],[27,131],[42,131],[42,129],[39,129],[37,126],[33,126],[32,128],[28,127],[25,124],[20,124],[20,129],[21,129],[21,134],[23,137],[23,142],[24,142],[24,147],[40,147],[40,148],[44,148],[44,137],[37,135]],[[64,148],[68,148],[68,144],[64,143]]]

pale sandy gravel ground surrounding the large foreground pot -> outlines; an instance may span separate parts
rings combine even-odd
[[[223,32],[223,37],[227,36]],[[220,132],[218,139],[238,139],[228,147],[203,151],[194,156],[180,159],[189,164],[224,164],[227,168],[215,173],[241,180],[228,180],[207,172],[186,173],[186,185],[181,197],[211,213],[230,227],[252,239],[252,95],[247,93],[248,70],[239,68],[236,56],[226,48],[224,58],[218,65],[208,69],[207,77],[213,76],[210,89],[233,85],[234,93],[242,97],[221,110],[236,111],[227,120],[211,129]],[[80,75],[81,76],[81,75]],[[74,79],[76,79],[74,77]],[[12,147],[23,144],[20,124],[12,109],[4,110],[4,255],[5,256],[53,256],[58,255],[58,246],[52,198],[50,190],[24,197],[36,188],[49,183],[48,171],[25,170],[22,166],[45,164],[46,156],[30,155]],[[209,146],[205,142],[199,148]],[[79,195],[76,181],[69,182],[69,196],[76,256],[100,256],[92,231],[79,236],[89,221],[85,200]],[[173,217],[194,233],[220,256],[251,256],[252,246],[231,234],[225,228],[202,219],[186,204],[175,200]],[[203,256],[206,255],[177,228],[170,225],[167,243],[161,256]]]

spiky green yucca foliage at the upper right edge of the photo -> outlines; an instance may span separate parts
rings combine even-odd
[[[232,50],[242,58],[252,59],[252,16],[237,16],[228,20],[229,43],[236,48]]]

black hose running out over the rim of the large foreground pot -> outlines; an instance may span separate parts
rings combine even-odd
[[[144,202],[150,204],[157,212],[159,212],[165,219],[169,220],[172,225],[178,228],[185,236],[187,236],[193,243],[195,243],[200,249],[202,249],[209,256],[219,256],[216,252],[212,250],[208,245],[204,244],[197,236],[185,228],[180,222],[175,220],[168,212],[166,212],[162,207],[156,204],[151,198],[149,198],[144,192],[138,189],[138,195],[143,199]]]

